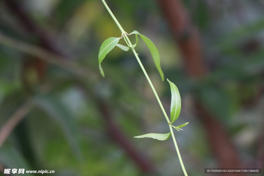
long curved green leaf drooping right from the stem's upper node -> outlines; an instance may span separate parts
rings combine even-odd
[[[161,70],[161,63],[160,63],[160,58],[159,58],[159,51],[157,47],[152,43],[151,40],[149,40],[147,37],[144,35],[139,34],[138,31],[133,31],[131,34],[138,34],[142,38],[142,40],[145,42],[145,44],[148,46],[150,53],[153,57],[154,63],[159,71],[159,74],[161,75],[162,81],[164,81],[164,74]],[[137,36],[136,36],[137,37]],[[133,45],[134,46],[134,45]]]

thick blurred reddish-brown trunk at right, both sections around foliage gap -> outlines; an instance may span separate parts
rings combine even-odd
[[[187,74],[192,78],[206,78],[207,70],[202,55],[199,32],[190,23],[190,17],[183,4],[180,0],[158,0],[158,2],[181,50]],[[239,168],[237,151],[221,123],[200,105],[199,100],[197,100],[196,111],[205,126],[209,143],[218,160],[219,167]]]

